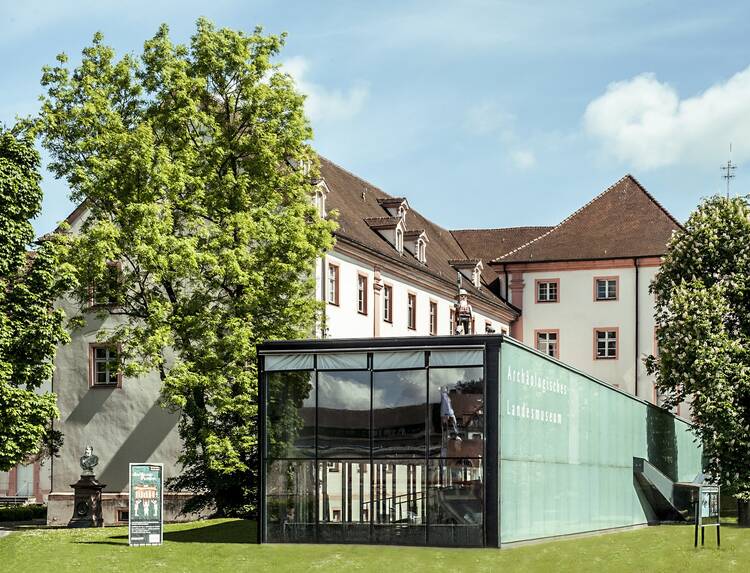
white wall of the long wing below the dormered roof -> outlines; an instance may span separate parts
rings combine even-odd
[[[384,285],[393,288],[393,322],[383,320],[384,296],[380,291],[380,310],[375,316],[375,292],[373,284],[375,272],[371,266],[366,266],[352,257],[332,252],[326,255],[326,281],[328,288],[328,263],[339,266],[339,305],[326,303],[327,336],[329,338],[361,338],[372,337],[375,333],[375,320],[379,321],[380,336],[428,336],[430,334],[430,301],[438,304],[437,334],[452,334],[450,325],[450,311],[455,301],[437,294],[434,291],[416,287],[401,278],[395,277],[386,270],[381,271]],[[367,315],[357,312],[357,276],[367,275]],[[408,293],[417,295],[417,324],[416,329],[408,327]],[[471,302],[471,299],[469,299]],[[485,321],[489,321],[497,334],[501,329],[507,330],[508,324],[495,317],[488,317],[476,310],[474,306],[475,328],[478,334],[485,332]]]

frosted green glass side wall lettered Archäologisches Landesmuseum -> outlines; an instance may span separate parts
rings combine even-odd
[[[645,523],[633,457],[701,471],[687,423],[507,339],[499,379],[501,543]]]

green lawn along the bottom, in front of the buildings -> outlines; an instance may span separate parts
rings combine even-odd
[[[691,526],[660,526],[513,549],[255,545],[255,523],[210,520],[166,527],[161,547],[128,547],[127,528],[22,528],[0,539],[3,571],[748,571],[750,529],[724,525],[693,548]]]

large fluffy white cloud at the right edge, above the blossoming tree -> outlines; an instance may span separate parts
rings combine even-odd
[[[639,169],[718,166],[730,142],[735,161],[749,160],[750,67],[686,99],[653,74],[612,83],[583,123],[607,152]]]

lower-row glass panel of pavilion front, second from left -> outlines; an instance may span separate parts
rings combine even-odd
[[[318,465],[320,541],[370,541],[369,465],[366,460],[336,460]]]

